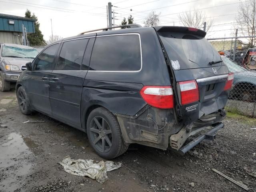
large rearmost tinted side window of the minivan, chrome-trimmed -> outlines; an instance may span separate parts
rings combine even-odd
[[[97,37],[92,50],[90,70],[137,71],[141,67],[138,35]]]

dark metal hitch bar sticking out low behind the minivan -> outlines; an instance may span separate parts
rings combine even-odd
[[[214,140],[216,138],[216,135],[214,134],[218,130],[224,127],[223,123],[218,123],[214,128],[209,130],[208,132],[204,133],[203,135],[199,136],[198,138],[194,139],[190,143],[186,144],[184,147],[180,148],[178,152],[182,155],[184,155],[186,152],[188,152],[190,149],[192,149],[194,146],[196,146],[198,143],[200,143],[202,140]]]

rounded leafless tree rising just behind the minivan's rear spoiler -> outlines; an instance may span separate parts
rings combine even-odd
[[[178,16],[180,22],[186,27],[203,28],[204,22],[206,22],[206,32],[212,27],[213,19],[207,17],[202,10],[193,9],[183,12]]]

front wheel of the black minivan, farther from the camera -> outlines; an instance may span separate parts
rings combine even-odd
[[[32,114],[32,110],[30,108],[30,104],[28,102],[28,97],[26,92],[22,86],[20,86],[17,90],[17,100],[20,107],[20,111],[24,115]]]

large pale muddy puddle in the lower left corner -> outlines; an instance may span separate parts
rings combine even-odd
[[[0,191],[20,188],[33,166],[33,148],[38,147],[29,138],[15,132],[0,140]]]

